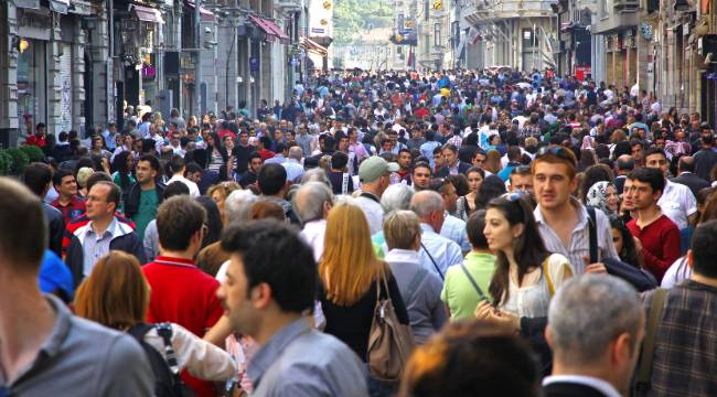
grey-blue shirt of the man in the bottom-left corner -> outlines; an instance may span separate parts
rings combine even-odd
[[[154,375],[131,336],[74,316],[46,296],[57,312],[52,334],[33,363],[8,384],[12,396],[152,396]]]

